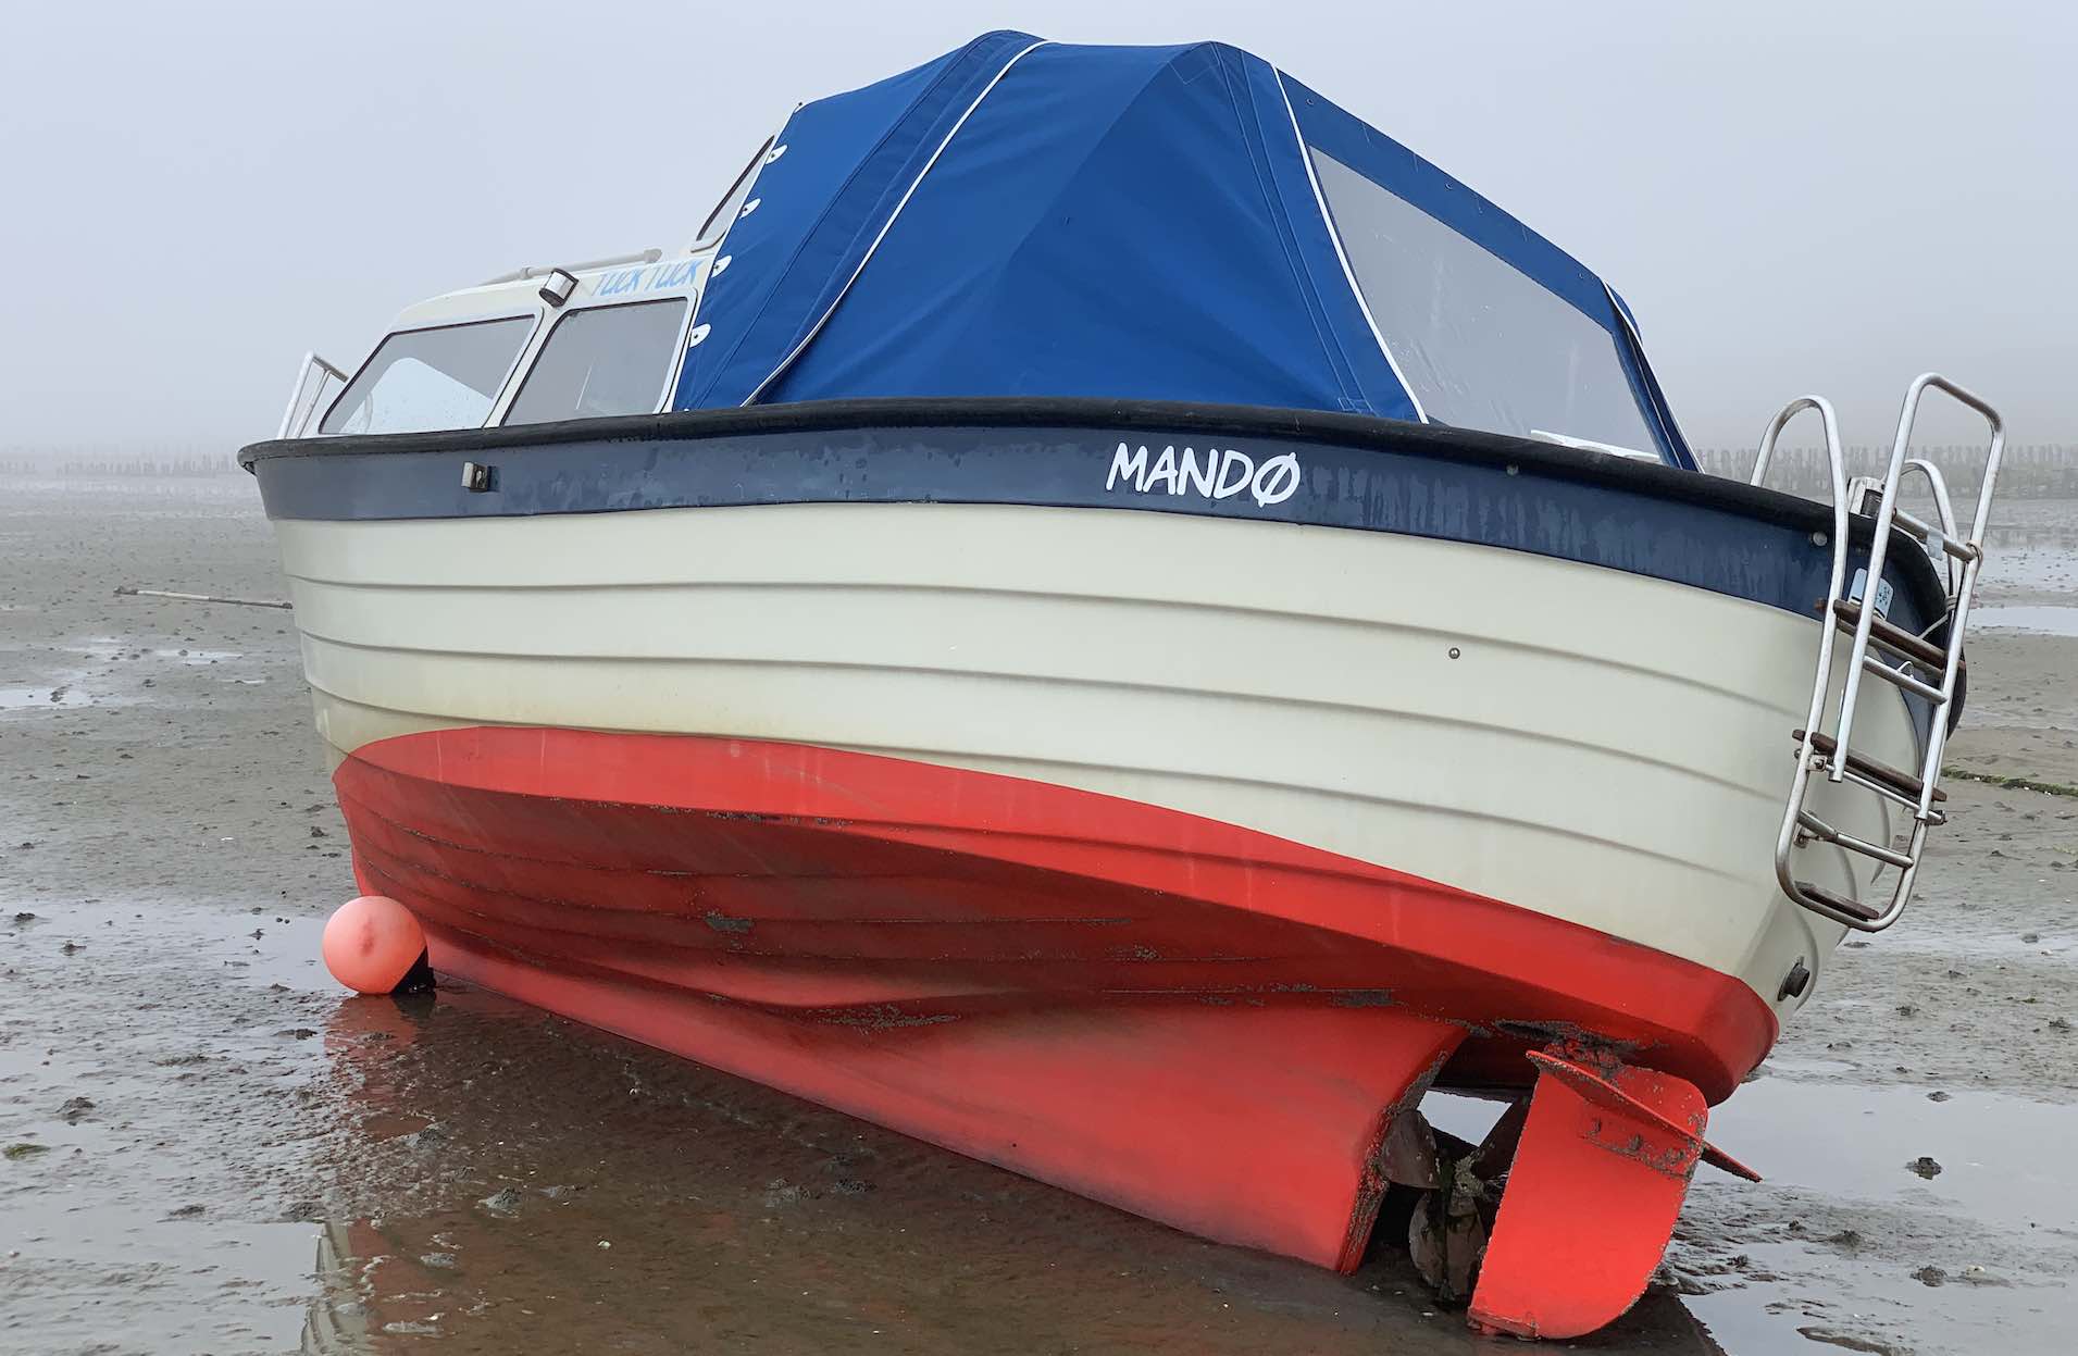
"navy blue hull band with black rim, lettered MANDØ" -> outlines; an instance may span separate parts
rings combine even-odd
[[[794,503],[1187,513],[1525,550],[1814,621],[1831,569],[1831,515],[1810,500],[1521,438],[1320,411],[842,401],[262,442],[241,463],[274,519]],[[488,465],[490,488],[463,488],[463,463]],[[1858,527],[1866,552],[1866,519]],[[1920,631],[1945,596],[1924,552],[1901,546],[1885,571],[1897,588],[1891,619]]]

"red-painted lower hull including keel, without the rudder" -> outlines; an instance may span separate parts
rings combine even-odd
[[[1392,1111],[1592,1032],[1721,1101],[1741,982],[1286,839],[819,748],[451,729],[337,785],[434,968],[1207,1238],[1361,1256]]]

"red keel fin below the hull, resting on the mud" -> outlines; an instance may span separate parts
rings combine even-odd
[[[1355,1271],[1384,1144],[1463,1030],[1394,1007],[1093,1003],[798,1013],[547,970],[441,924],[524,1003],[1226,1244]]]

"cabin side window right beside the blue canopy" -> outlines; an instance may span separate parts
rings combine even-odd
[[[684,297],[569,311],[549,330],[505,422],[655,413],[684,324]]]

